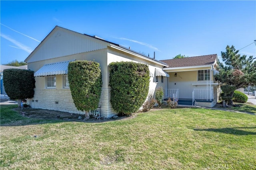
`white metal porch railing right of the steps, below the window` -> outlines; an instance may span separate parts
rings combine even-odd
[[[196,105],[196,100],[213,100],[211,89],[194,89],[192,92],[192,104]]]

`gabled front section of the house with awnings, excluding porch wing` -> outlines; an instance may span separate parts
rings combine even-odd
[[[34,71],[36,80],[34,98],[28,99],[27,103],[34,108],[84,114],[76,109],[68,84],[68,63],[75,60],[100,63],[103,84],[99,107],[104,117],[116,114],[110,104],[108,64],[112,62],[133,61],[147,64],[150,70],[149,92],[154,93],[158,86],[168,88],[169,74],[162,70],[168,67],[166,63],[100,37],[56,26],[25,59],[28,69]]]

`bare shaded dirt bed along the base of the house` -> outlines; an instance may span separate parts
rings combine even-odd
[[[84,115],[68,113],[63,111],[56,110],[47,110],[47,109],[35,109],[31,107],[24,107],[21,111],[21,108],[15,108],[15,111],[20,112],[20,114],[24,117],[29,117],[33,119],[44,119],[44,120],[64,120],[64,121],[81,121],[81,122],[105,122],[105,121],[114,121],[114,120],[124,120],[124,119],[132,119],[137,114],[127,117],[127,116],[118,116],[117,118],[90,118],[84,121]],[[82,119],[78,119],[79,116],[82,116]]]

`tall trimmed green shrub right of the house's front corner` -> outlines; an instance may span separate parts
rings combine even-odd
[[[145,102],[149,89],[149,69],[146,64],[134,62],[110,63],[110,102],[113,109],[130,115]]]

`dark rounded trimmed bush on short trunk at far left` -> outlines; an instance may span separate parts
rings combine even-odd
[[[10,68],[3,72],[3,83],[6,94],[17,100],[18,107],[22,99],[33,98],[35,86],[34,71]]]

